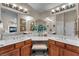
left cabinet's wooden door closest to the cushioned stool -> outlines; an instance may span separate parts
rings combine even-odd
[[[21,56],[30,56],[32,52],[31,44],[27,44],[21,48]]]

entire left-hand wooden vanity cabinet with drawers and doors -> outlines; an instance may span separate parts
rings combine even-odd
[[[0,48],[0,56],[30,56],[31,53],[31,39]]]

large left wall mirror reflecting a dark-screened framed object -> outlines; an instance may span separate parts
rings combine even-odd
[[[7,9],[1,9],[1,19],[3,22],[4,33],[17,32],[17,18],[17,13],[9,11]]]

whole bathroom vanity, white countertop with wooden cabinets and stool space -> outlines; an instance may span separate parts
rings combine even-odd
[[[57,35],[22,35],[18,39],[0,40],[1,56],[31,56],[34,51],[37,51],[36,54],[43,52],[45,56],[78,56],[79,40]]]

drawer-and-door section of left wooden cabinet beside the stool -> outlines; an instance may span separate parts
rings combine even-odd
[[[32,53],[32,40],[26,40],[25,46],[21,48],[21,56],[30,56]]]

